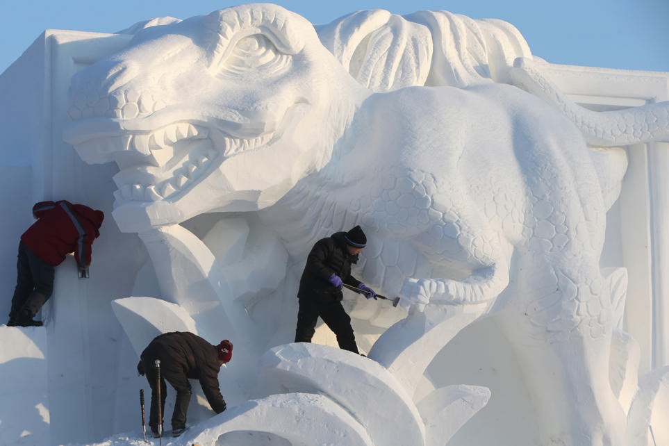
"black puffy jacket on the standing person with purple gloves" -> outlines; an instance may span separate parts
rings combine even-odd
[[[314,303],[330,304],[343,299],[340,288],[328,281],[334,273],[344,283],[360,286],[360,281],[351,275],[351,264],[357,263],[358,256],[349,254],[344,232],[336,232],[327,238],[318,240],[306,258],[302,278],[299,279],[298,299],[311,300]]]

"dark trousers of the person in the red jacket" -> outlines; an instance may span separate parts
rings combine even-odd
[[[16,270],[16,288],[9,317],[16,319],[24,313],[32,319],[53,293],[56,268],[20,242]]]

